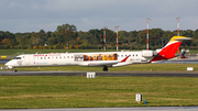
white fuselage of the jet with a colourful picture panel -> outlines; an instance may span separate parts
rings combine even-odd
[[[151,51],[152,52],[152,51]],[[130,64],[150,63],[154,56],[143,57],[143,52],[97,52],[97,53],[51,53],[24,54],[16,56],[6,65],[12,67],[40,66],[108,66],[117,67]],[[125,58],[124,62],[122,62]]]

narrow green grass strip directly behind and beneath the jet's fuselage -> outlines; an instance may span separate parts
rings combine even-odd
[[[4,65],[0,65],[4,66]],[[122,67],[109,67],[109,71],[186,71],[187,67],[194,67],[198,71],[198,64],[133,64]],[[75,71],[102,71],[102,67],[84,67],[84,66],[59,66],[59,67],[19,67],[18,70],[34,71],[57,71],[57,70],[75,70]]]

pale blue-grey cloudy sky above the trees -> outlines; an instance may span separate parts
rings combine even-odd
[[[164,31],[198,29],[198,0],[0,0],[0,31],[56,31],[74,24],[77,31],[103,29]]]

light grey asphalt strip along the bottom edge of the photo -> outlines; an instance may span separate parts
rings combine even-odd
[[[0,111],[198,111],[198,107],[133,107],[133,108],[68,108],[68,109],[4,109]]]

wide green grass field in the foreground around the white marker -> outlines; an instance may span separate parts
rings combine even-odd
[[[198,78],[0,76],[0,109],[198,106]]]

